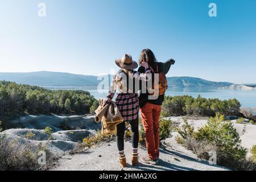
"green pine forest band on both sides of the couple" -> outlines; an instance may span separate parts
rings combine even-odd
[[[89,92],[82,90],[49,90],[39,86],[0,81],[0,115],[2,114],[50,114],[94,113],[98,101]],[[240,115],[241,104],[236,99],[207,99],[200,95],[166,96],[163,115]]]

